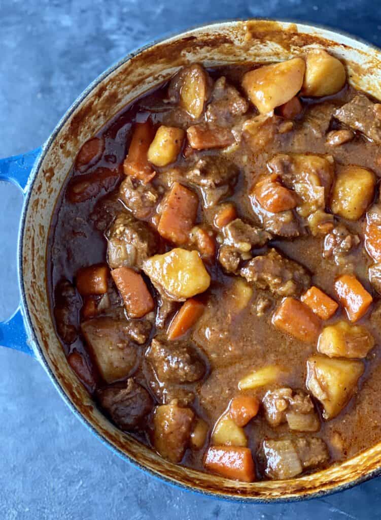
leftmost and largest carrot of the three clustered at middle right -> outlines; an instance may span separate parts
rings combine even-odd
[[[273,325],[305,343],[318,339],[321,321],[304,303],[288,296],[284,298],[272,317]]]

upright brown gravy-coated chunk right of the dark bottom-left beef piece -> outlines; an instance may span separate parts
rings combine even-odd
[[[153,417],[153,445],[164,459],[180,462],[188,447],[194,413],[176,400],[157,406]]]

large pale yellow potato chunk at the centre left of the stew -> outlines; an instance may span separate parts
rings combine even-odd
[[[143,271],[152,283],[178,302],[206,291],[211,277],[198,251],[175,248],[143,262]]]

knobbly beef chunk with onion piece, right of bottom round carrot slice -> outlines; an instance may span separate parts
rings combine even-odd
[[[320,428],[313,402],[304,392],[293,393],[291,388],[278,388],[267,392],[262,402],[270,426],[287,422],[291,430],[298,432],[317,432]]]

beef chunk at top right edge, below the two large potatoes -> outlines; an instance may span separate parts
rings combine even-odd
[[[364,94],[358,94],[349,103],[338,108],[334,116],[340,123],[361,132],[376,144],[381,144],[378,103],[373,103]]]

